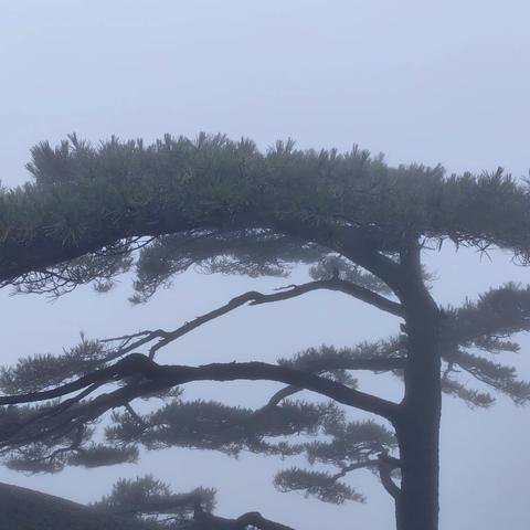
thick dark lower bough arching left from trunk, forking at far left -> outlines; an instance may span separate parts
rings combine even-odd
[[[55,409],[53,406],[50,407],[50,411],[56,410],[59,413],[55,417],[52,416],[54,421],[50,422],[51,414],[47,411],[47,420],[44,423],[41,436],[46,437],[57,433],[64,434],[68,430],[77,428],[80,424],[96,420],[112,409],[125,406],[136,398],[152,395],[156,392],[193,381],[276,381],[316,392],[344,405],[380,415],[391,422],[398,417],[400,410],[396,403],[360,392],[315,373],[289,367],[265,362],[212,363],[201,367],[168,365],[158,364],[139,353],[130,354],[113,367],[96,370],[87,377],[57,386],[53,391],[2,396],[0,398],[0,405],[34,403],[67,395],[76,390],[92,386],[96,382],[104,384],[129,378],[135,378],[134,384],[126,384],[115,391],[100,394],[92,401],[77,403],[75,407],[64,410],[61,403]],[[34,425],[30,435],[34,441]],[[24,434],[18,431],[15,439],[7,434],[1,445],[6,446],[22,442],[24,442]]]

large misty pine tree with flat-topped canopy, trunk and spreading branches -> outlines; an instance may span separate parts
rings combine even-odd
[[[368,467],[394,500],[400,530],[436,530],[442,392],[491,405],[494,395],[468,388],[464,371],[518,404],[530,398],[513,368],[487,357],[517,351],[511,336],[528,330],[530,290],[509,284],[463,307],[439,307],[422,265],[422,253],[446,241],[481,252],[500,247],[528,264],[528,190],[501,170],[446,177],[441,167],[390,168],[358,148],[299,151],[288,141],[263,155],[248,140],[204,135],[152,146],[113,138],[98,148],[72,136],[55,149],[38,146],[29,169],[34,182],[3,191],[0,206],[0,279],[19,292],[61,295],[87,282],[105,292],[131,268],[135,303],[190,267],[256,277],[286,276],[304,264],[312,280],[243,294],[174,330],[84,339],[55,358],[4,369],[0,443],[11,467],[113,464],[135,459],[139,446],[305,454],[329,473],[288,468],[275,479],[279,489],[360,500],[341,479]],[[310,349],[277,364],[156,361],[160,349],[237,307],[316,289],[394,315],[401,335]],[[357,370],[401,378],[402,402],[357,390]],[[286,386],[256,411],[180,394],[192,381],[236,379]],[[297,400],[300,390],[331,403]],[[167,402],[148,414],[130,404],[152,396]],[[388,421],[393,432],[350,421],[343,406]],[[113,414],[106,442],[94,442],[95,420],[117,407],[123,412]],[[312,442],[289,439],[297,433]]]

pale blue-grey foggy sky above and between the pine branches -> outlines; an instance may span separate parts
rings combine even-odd
[[[71,131],[97,141],[200,130],[248,136],[262,148],[289,136],[301,147],[357,142],[384,151],[391,163],[442,162],[458,172],[500,165],[523,176],[529,21],[523,0],[0,0],[0,177],[23,182],[31,146]],[[437,299],[457,304],[508,279],[528,283],[529,271],[492,257],[451,250],[427,256],[439,278]],[[250,287],[282,285],[190,273],[131,308],[128,282],[108,296],[82,288],[52,305],[3,294],[2,362],[60,351],[81,329],[99,337],[176,327]],[[384,337],[396,326],[340,295],[314,294],[243,309],[187,337],[165,359],[273,361],[307,346]],[[528,357],[509,362],[530,378]],[[398,396],[389,380],[365,385]],[[259,405],[272,386],[263,388],[195,385],[187,395]],[[452,400],[444,406],[442,529],[527,530],[528,410],[502,399],[487,412]],[[367,505],[332,507],[276,494],[269,479],[277,465],[168,451],[137,466],[53,477],[0,469],[0,479],[87,501],[118,476],[155,473],[177,489],[219,487],[221,515],[259,509],[307,530],[329,520],[335,528],[392,528],[391,502],[370,474],[359,475]]]

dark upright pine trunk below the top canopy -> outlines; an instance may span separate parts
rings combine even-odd
[[[402,473],[396,522],[398,530],[437,530],[442,413],[439,311],[423,282],[415,287],[404,296],[407,364],[405,396],[395,425]]]

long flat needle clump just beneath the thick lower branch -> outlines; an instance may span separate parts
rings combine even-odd
[[[149,449],[190,447],[215,449],[236,456],[242,451],[285,454],[296,447],[273,438],[316,435],[331,417],[340,415],[332,403],[303,401],[253,411],[213,401],[173,400],[161,409],[138,417],[114,413],[106,436],[113,443],[141,443]]]

